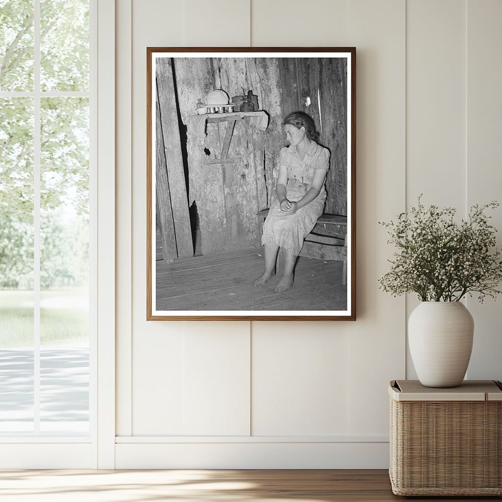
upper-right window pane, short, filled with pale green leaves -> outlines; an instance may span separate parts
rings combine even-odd
[[[41,0],[42,90],[89,88],[89,1]]]

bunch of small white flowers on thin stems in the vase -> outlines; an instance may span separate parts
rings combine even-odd
[[[502,280],[502,254],[496,247],[496,229],[488,224],[485,209],[498,202],[473,205],[466,221],[454,221],[451,207],[426,209],[418,197],[417,207],[396,222],[380,222],[398,250],[391,270],[380,278],[380,289],[397,295],[418,293],[424,302],[458,302],[477,293],[482,303],[495,298]]]

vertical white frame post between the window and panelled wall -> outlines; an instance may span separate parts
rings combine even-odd
[[[97,467],[115,467],[115,2],[98,4]]]

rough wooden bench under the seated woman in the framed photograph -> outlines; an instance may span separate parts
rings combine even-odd
[[[260,211],[259,218],[267,218],[268,209]],[[277,254],[276,269],[283,267],[282,249]],[[318,260],[343,262],[343,284],[347,284],[347,217],[337,214],[322,214],[317,218],[312,231],[305,237],[299,256]]]

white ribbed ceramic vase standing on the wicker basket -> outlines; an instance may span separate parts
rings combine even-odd
[[[460,302],[422,302],[408,320],[408,341],[426,387],[462,383],[472,352],[474,321]]]

